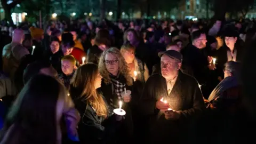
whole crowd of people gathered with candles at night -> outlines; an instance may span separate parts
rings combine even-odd
[[[246,143],[255,33],[249,20],[2,26],[0,143]]]

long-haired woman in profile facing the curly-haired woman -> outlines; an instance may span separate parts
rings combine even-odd
[[[101,86],[101,78],[98,66],[87,63],[79,67],[71,79],[70,96],[82,117],[78,124],[81,143],[115,143],[113,132],[122,118],[112,116],[103,96],[96,90]]]

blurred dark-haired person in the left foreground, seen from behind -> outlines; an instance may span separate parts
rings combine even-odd
[[[38,83],[40,82],[40,83]],[[7,115],[1,143],[62,143],[62,120],[77,135],[79,121],[65,87],[55,78],[36,75],[22,89]],[[77,120],[77,119],[76,119]]]

